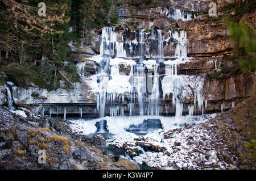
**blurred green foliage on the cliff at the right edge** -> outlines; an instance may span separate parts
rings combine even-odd
[[[230,19],[224,22],[234,42],[234,52],[224,55],[221,70],[207,74],[209,79],[225,79],[241,73],[249,75],[256,70],[256,33],[245,23],[234,23]]]

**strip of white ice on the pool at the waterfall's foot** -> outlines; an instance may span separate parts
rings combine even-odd
[[[130,125],[142,124],[144,120],[156,119],[160,120],[163,131],[167,131],[172,128],[182,127],[185,123],[194,125],[204,123],[205,121],[214,117],[212,115],[199,115],[199,116],[180,116],[180,117],[166,117],[166,116],[116,116],[116,117],[101,117],[97,119],[69,119],[70,126],[73,132],[81,132],[88,136],[93,136],[97,133],[96,123],[101,120],[106,120],[106,128],[108,132],[98,132],[104,134],[104,136],[111,136],[112,134],[127,133],[126,129]],[[147,132],[137,132],[137,134],[146,134]]]

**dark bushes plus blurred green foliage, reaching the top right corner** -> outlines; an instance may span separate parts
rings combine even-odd
[[[247,77],[256,70],[256,33],[243,21],[239,21],[245,12],[255,10],[255,1],[228,4],[222,7],[225,12],[224,22],[229,30],[229,37],[234,43],[234,52],[225,55],[221,70],[208,74],[208,78],[229,78],[234,74],[245,74]],[[232,13],[233,12],[233,13]],[[232,64],[230,64],[232,62]]]

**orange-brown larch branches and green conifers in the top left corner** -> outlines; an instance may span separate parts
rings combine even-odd
[[[39,2],[47,5],[46,17],[38,16]],[[58,70],[63,70],[72,56],[68,43],[80,39],[78,32],[69,32],[74,24],[69,23],[71,16],[80,18],[75,11],[79,5],[78,0],[0,1],[0,50],[9,52],[9,57],[1,60],[11,64],[5,63],[3,68],[8,79],[25,88],[30,83],[47,89],[60,87]],[[11,7],[16,7],[15,11]],[[77,81],[77,73],[72,74],[71,79]]]

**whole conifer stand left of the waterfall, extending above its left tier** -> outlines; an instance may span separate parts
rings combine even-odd
[[[46,3],[46,16],[39,16],[39,2]],[[117,23],[115,3],[115,0],[1,1],[1,83],[9,80],[27,88],[32,82],[42,88],[57,89],[64,74],[71,82],[79,81],[69,43],[86,38],[92,28]],[[60,71],[64,73],[61,75]]]

